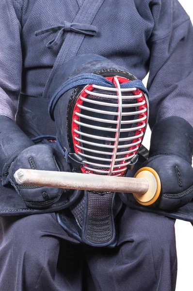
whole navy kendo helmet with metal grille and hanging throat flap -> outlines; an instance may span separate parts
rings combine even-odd
[[[108,59],[83,55],[56,72],[50,91],[49,113],[72,171],[126,175],[138,160],[148,120],[143,83]],[[71,207],[82,241],[93,246],[112,244],[114,218],[121,205],[115,193],[85,191]]]

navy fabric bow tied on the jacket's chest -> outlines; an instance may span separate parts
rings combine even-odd
[[[42,29],[39,30],[37,32],[35,32],[35,35],[41,35],[47,32],[58,32],[56,38],[50,40],[47,43],[47,48],[48,49],[54,49],[56,46],[58,46],[58,44],[61,44],[62,37],[63,37],[63,33],[65,32],[78,32],[81,34],[85,34],[85,35],[96,35],[97,32],[97,28],[94,25],[88,25],[88,24],[82,24],[82,23],[70,23],[68,21],[64,21],[63,25],[58,25],[58,26],[52,26],[46,29]]]

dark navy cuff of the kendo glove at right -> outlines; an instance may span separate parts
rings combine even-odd
[[[192,164],[193,127],[185,119],[171,116],[156,123],[152,129],[149,158],[177,155]]]

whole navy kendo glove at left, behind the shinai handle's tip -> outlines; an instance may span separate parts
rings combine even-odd
[[[54,187],[18,185],[16,170],[63,170],[57,152],[49,145],[35,145],[32,140],[8,117],[0,116],[0,173],[2,185],[10,183],[24,199],[27,207],[44,209],[51,206],[63,192]]]

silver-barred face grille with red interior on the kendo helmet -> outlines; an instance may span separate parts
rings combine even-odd
[[[141,90],[120,88],[128,79],[106,78],[115,88],[87,85],[77,97],[72,141],[83,173],[123,176],[144,135],[147,102]]]

